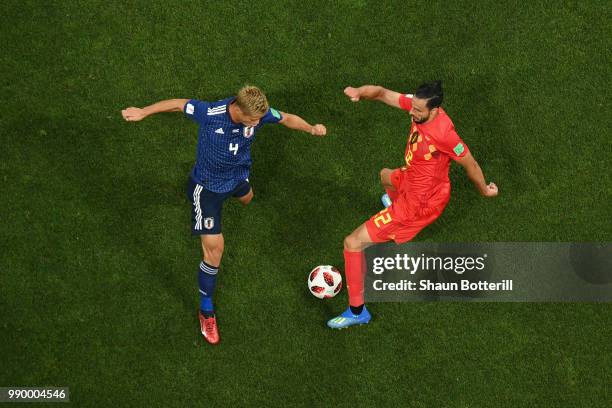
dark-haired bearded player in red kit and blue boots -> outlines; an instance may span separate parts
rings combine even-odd
[[[327,322],[340,329],[365,324],[371,319],[364,305],[365,258],[368,246],[387,241],[410,241],[444,211],[450,199],[450,161],[459,163],[484,197],[498,193],[494,183],[486,183],[480,166],[457,132],[442,104],[440,81],[421,85],[414,95],[400,94],[380,86],[348,87],[344,93],[353,102],[376,100],[409,112],[410,132],[404,154],[405,165],[382,169],[380,180],[387,194],[387,208],[373,215],[344,239],[344,267],[349,292],[349,308]]]

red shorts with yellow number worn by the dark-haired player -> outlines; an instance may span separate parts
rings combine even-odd
[[[398,190],[401,174],[394,171],[391,182]],[[366,228],[373,242],[395,241],[401,244],[410,241],[423,228],[434,222],[448,204],[450,185],[443,184],[436,188],[435,193],[422,202],[400,194],[389,208],[374,214],[366,221]]]

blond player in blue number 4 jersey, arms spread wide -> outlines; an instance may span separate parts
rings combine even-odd
[[[216,344],[219,331],[212,297],[224,248],[221,209],[230,197],[245,205],[253,198],[249,170],[255,134],[267,123],[280,123],[315,136],[325,136],[327,130],[323,125],[312,126],[297,115],[271,108],[264,93],[254,86],[245,86],[236,96],[217,102],[170,99],[144,108],[130,107],[121,113],[126,121],[134,122],[155,113],[178,111],[199,125],[188,198],[192,205],[192,233],[200,236],[203,252],[198,271],[200,330],[206,341]]]

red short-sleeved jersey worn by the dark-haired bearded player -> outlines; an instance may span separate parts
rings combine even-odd
[[[412,108],[412,95],[400,95],[399,103],[403,110],[409,111]],[[420,124],[412,120],[404,156],[406,166],[402,168],[400,196],[413,202],[416,199],[421,204],[431,199],[437,201],[434,197],[437,193],[450,191],[450,160],[458,160],[468,152],[468,147],[455,132],[455,126],[444,109],[439,108],[438,115],[430,122]]]

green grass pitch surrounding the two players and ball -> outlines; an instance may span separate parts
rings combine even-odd
[[[485,175],[453,165],[418,241],[610,241],[611,8],[604,1],[16,1],[0,5],[0,386],[75,406],[608,407],[609,304],[372,304],[307,272],[379,209],[406,115],[345,86],[442,79]],[[250,83],[324,123],[267,126],[255,199],[226,204],[222,343],[196,322],[186,176],[196,126],[120,110]]]

